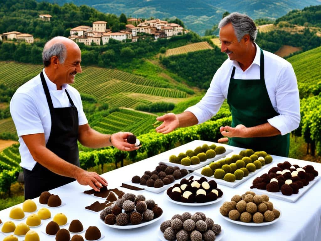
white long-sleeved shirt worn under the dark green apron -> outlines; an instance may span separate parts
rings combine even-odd
[[[299,127],[300,100],[297,79],[292,65],[285,59],[263,50],[265,85],[274,110],[279,115],[266,120],[271,126],[285,135]],[[230,77],[235,66],[235,79],[260,79],[261,52],[256,44],[256,55],[253,63],[244,72],[239,63],[229,58],[216,71],[211,85],[204,97],[185,111],[192,112],[198,124],[211,119],[227,99]],[[264,110],[262,110],[264,111]]]

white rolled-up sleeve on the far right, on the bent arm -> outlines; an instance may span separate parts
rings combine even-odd
[[[279,115],[267,121],[278,129],[281,135],[285,135],[297,129],[300,123],[299,89],[291,65],[284,67],[280,72],[275,98]]]

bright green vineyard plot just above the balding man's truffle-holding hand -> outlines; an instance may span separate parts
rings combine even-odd
[[[127,109],[119,109],[110,115],[93,121],[91,127],[101,133],[112,134],[118,131],[129,131],[135,135],[140,135],[153,129],[153,123],[156,116],[131,111]]]

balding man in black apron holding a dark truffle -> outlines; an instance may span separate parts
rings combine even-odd
[[[70,86],[80,66],[78,45],[65,37],[49,40],[42,52],[44,69],[20,86],[10,102],[17,129],[25,180],[25,199],[38,197],[75,179],[95,191],[107,181],[79,167],[79,142],[91,148],[115,146],[136,150],[126,142],[131,133],[101,134],[90,128],[79,92]]]

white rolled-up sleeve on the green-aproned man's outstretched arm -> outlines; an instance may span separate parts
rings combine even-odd
[[[216,71],[209,89],[200,102],[185,110],[192,112],[196,116],[198,124],[211,119],[220,110],[225,99],[220,86],[220,69]]]

